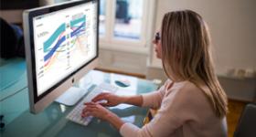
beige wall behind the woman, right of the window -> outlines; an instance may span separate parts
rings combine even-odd
[[[256,69],[255,5],[255,0],[158,0],[155,29],[160,28],[166,12],[192,9],[203,16],[208,23],[218,74],[224,74],[230,68]],[[151,69],[161,69],[162,66],[161,61],[155,58],[155,54],[152,54],[150,64],[147,78],[151,77]],[[160,72],[155,71],[155,73]],[[222,84],[225,84],[223,87],[229,90],[229,96],[234,99],[252,100],[251,95],[255,95],[256,91],[253,84],[247,84],[249,86],[247,95],[240,97],[240,92],[231,91],[236,87],[236,84],[230,84],[233,80],[235,79],[221,80],[225,81]]]

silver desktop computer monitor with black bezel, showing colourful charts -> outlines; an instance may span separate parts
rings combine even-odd
[[[72,1],[24,11],[32,113],[44,110],[97,65],[98,16],[98,0]]]

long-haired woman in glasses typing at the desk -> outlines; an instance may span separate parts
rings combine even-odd
[[[227,136],[227,98],[215,75],[207,24],[197,13],[184,10],[165,14],[154,43],[169,79],[158,91],[133,97],[102,93],[82,116],[109,121],[123,136],[222,137]],[[108,100],[105,104],[95,103]],[[128,103],[159,109],[143,128],[124,123],[102,106]]]

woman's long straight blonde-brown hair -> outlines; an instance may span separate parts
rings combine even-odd
[[[197,85],[216,116],[224,117],[228,111],[227,97],[213,68],[208,26],[202,17],[191,10],[165,14],[161,43],[166,75],[174,81],[189,80]],[[203,85],[209,90],[203,90]]]

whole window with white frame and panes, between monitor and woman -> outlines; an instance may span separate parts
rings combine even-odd
[[[101,0],[100,46],[147,52],[154,4],[155,0]]]

